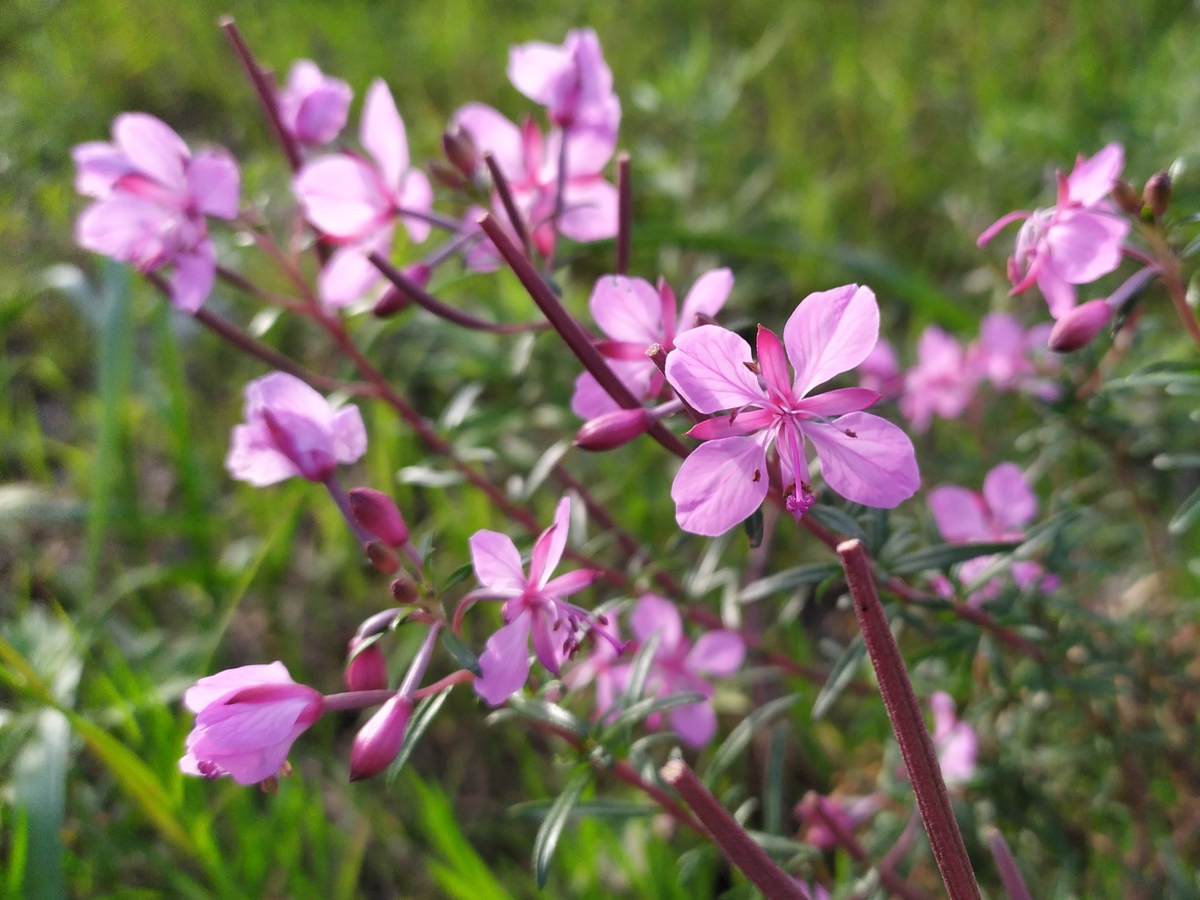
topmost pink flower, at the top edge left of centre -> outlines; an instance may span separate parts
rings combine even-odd
[[[612,92],[612,70],[592,29],[566,32],[560,47],[530,41],[509,49],[509,79],[546,107],[550,120],[571,140],[586,138],[617,146],[620,101]],[[570,148],[568,148],[570,151]]]

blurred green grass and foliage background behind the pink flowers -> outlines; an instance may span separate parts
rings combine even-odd
[[[625,109],[622,146],[634,157],[635,272],[661,271],[682,288],[708,264],[728,264],[737,276],[728,314],[742,324],[779,325],[809,290],[863,281],[876,288],[884,330],[906,361],[928,323],[972,336],[992,306],[1044,316],[1037,296],[1004,296],[998,252],[977,250],[974,238],[998,214],[1048,198],[1054,168],[1069,167],[1076,152],[1120,140],[1127,173],[1142,178],[1178,160],[1176,206],[1200,208],[1200,22],[1183,2],[1074,0],[1034,12],[934,0],[7,0],[6,896],[534,896],[536,809],[510,817],[509,808],[554,797],[574,770],[572,754],[518,718],[485,727],[469,689],[451,694],[388,790],[346,785],[358,721],[350,713],[326,716],[298,744],[296,776],[277,794],[178,770],[190,727],[179,697],[197,677],[283,659],[298,680],[334,691],[344,641],[386,601],[336,510],[310,485],[256,491],[226,476],[241,386],[260,366],[71,238],[83,202],[70,149],[104,139],[127,109],[158,115],[192,143],[229,148],[247,199],[268,210],[287,203],[286,168],[215,25],[220,13],[233,14],[281,74],[312,58],[359,98],[371,78],[386,78],[416,162],[434,155],[461,103],[479,100],[509,115],[528,108],[504,78],[510,43],[595,28]],[[222,252],[251,271],[258,264],[245,248]],[[608,260],[607,247],[571,260],[577,277],[566,299],[581,314],[590,278]],[[475,302],[481,314],[533,316],[510,276],[439,278],[439,292]],[[210,302],[253,318],[226,288]],[[1194,377],[1195,349],[1182,343],[1166,304],[1147,307],[1114,377],[1164,359]],[[310,329],[258,324],[313,368],[346,374]],[[529,473],[576,425],[566,412],[576,370],[550,336],[466,334],[412,313],[361,323],[358,336],[460,452],[497,479]],[[1087,350],[1070,365],[1087,372],[1098,358]],[[1193,390],[1170,394],[1152,382],[1110,384],[1044,415],[1006,396],[979,403],[966,425],[940,424],[916,442],[926,486],[977,487],[992,464],[1020,460],[1036,476],[1043,518],[1072,514],[1044,548],[1066,589],[1049,599],[1010,594],[991,607],[1042,642],[1055,665],[1020,659],[936,610],[905,613],[918,690],[970,701],[961,712],[980,730],[980,776],[958,809],[988,880],[980,835],[995,826],[1039,896],[1198,895],[1200,697],[1184,685],[1200,677],[1200,553],[1194,523],[1177,533],[1166,523],[1200,482],[1195,468],[1152,464],[1195,452],[1194,400]],[[366,403],[364,412],[372,442],[354,474],[394,488],[414,532],[436,535],[444,578],[467,560],[472,532],[505,523],[479,493],[432,486],[430,473],[444,463],[389,412]],[[736,607],[730,566],[744,562],[744,541],[737,533],[727,547],[678,536],[668,463],[656,446],[572,452],[566,462],[601,500],[619,502],[623,523],[643,542],[696,560],[678,574],[698,595]],[[546,521],[560,486],[511,478]],[[886,527],[866,516],[862,524],[889,535],[890,546],[876,548],[884,563],[934,536],[919,500]],[[589,551],[607,548],[600,539]],[[788,530],[766,572],[827,562],[806,535]],[[838,593],[821,575],[763,592],[734,614],[778,650],[829,667],[854,634]],[[485,631],[476,628],[478,647]],[[400,643],[397,665],[415,649]],[[794,836],[786,814],[804,790],[895,784],[894,745],[872,694],[847,691],[814,720],[815,685],[748,677],[719,695],[722,722],[791,692],[799,700],[781,724],[763,725],[716,779],[726,802],[776,839]],[[648,764],[655,752],[647,751]],[[712,758],[712,750],[702,757]],[[600,779],[582,796],[581,810],[623,794]],[[904,829],[900,809],[864,835],[876,857]],[[670,832],[641,815],[570,820],[545,895],[746,895],[712,848],[680,862],[696,845]],[[842,857],[811,864],[847,877],[852,869]]]

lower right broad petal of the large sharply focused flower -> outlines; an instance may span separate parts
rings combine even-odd
[[[877,415],[851,413],[833,425],[805,422],[804,434],[817,451],[826,484],[847,500],[890,509],[920,487],[912,442]]]

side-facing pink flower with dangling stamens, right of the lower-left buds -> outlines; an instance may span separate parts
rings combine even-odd
[[[521,554],[512,540],[498,532],[480,530],[470,538],[470,560],[480,589],[473,600],[503,600],[503,628],[487,638],[479,658],[482,678],[475,679],[475,691],[492,706],[499,706],[516,694],[529,678],[529,637],[538,660],[558,674],[563,660],[580,647],[580,641],[594,631],[592,614],[564,598],[589,587],[599,571],[580,569],[551,580],[554,566],[566,547],[571,500],[564,497],[554,514],[554,523],[533,545],[529,577],[521,566]],[[606,637],[606,632],[598,630]]]

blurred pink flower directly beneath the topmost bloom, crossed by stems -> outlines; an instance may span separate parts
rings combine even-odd
[[[616,144],[592,132],[568,142],[566,174],[563,180],[563,212],[556,228],[554,200],[563,132],[554,128],[546,139],[533,121],[517,127],[484,103],[468,103],[454,115],[454,122],[470,134],[480,152],[490,151],[509,182],[512,199],[529,227],[540,253],[554,248],[559,233],[576,241],[595,241],[617,234],[617,188],[602,172]],[[497,199],[496,215],[503,224],[508,216]],[[473,228],[473,221],[468,223]],[[467,256],[467,265],[490,271],[499,265],[491,241],[482,241]]]

